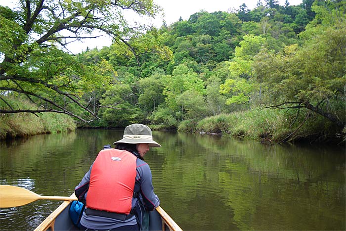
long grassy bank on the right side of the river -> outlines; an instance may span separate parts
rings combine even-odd
[[[220,114],[198,122],[183,121],[179,131],[221,133],[234,137],[268,142],[345,141],[346,128],[341,129],[324,117],[301,110],[297,112],[279,109],[262,109],[233,114]]]

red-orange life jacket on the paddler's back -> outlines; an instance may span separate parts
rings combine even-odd
[[[87,208],[129,214],[136,178],[136,159],[118,149],[101,150],[91,168]]]

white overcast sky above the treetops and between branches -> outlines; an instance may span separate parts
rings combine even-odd
[[[243,3],[247,5],[249,9],[253,9],[256,6],[258,0],[154,0],[154,2],[160,5],[165,13],[165,21],[167,25],[179,20],[180,16],[183,20],[187,20],[191,14],[205,10],[209,13],[215,11],[226,11],[229,9],[238,9]],[[261,0],[264,4],[264,0]],[[4,6],[13,6],[15,0],[0,0],[0,4]],[[285,0],[278,0],[280,5],[285,4]],[[289,0],[290,5],[298,5],[303,0]],[[130,16],[131,17],[131,16]],[[162,25],[162,17],[157,17],[153,23],[157,27]],[[104,35],[97,39],[86,39],[83,42],[71,43],[68,48],[73,53],[79,53],[86,50],[87,47],[90,49],[97,47],[102,48],[103,46],[110,46],[111,39]]]

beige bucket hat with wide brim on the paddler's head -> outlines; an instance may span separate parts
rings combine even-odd
[[[124,130],[123,139],[115,141],[116,143],[148,143],[150,147],[161,147],[159,143],[153,140],[151,129],[144,124],[131,124]]]

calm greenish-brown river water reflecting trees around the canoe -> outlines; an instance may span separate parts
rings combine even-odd
[[[103,144],[123,131],[1,141],[0,184],[69,196]],[[346,230],[345,148],[263,145],[153,132],[145,159],[161,206],[189,230]],[[0,230],[34,230],[61,202],[0,209]]]

